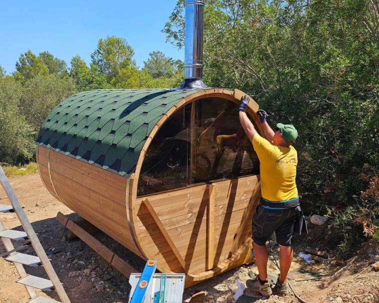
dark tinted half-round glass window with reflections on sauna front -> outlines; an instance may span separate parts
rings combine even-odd
[[[237,105],[205,98],[178,110],[154,137],[143,162],[138,195],[259,173]]]

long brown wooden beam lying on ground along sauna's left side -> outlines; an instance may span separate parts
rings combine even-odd
[[[67,229],[73,232],[85,244],[91,247],[96,253],[103,257],[109,264],[121,272],[125,277],[129,278],[131,273],[138,273],[129,263],[125,262],[118,255],[112,252],[108,247],[101,244],[94,236],[77,225],[74,221],[68,219],[64,214],[58,212],[56,215],[58,222],[63,224]]]

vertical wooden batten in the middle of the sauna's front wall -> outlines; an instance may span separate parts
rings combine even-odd
[[[209,184],[209,200],[207,205],[207,239],[208,253],[206,260],[206,269],[212,269],[214,263],[214,207],[216,191],[214,184]]]

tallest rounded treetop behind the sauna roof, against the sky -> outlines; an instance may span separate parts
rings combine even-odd
[[[108,36],[99,39],[91,59],[100,73],[106,76],[108,83],[111,83],[119,70],[136,65],[133,56],[134,50],[124,38]]]

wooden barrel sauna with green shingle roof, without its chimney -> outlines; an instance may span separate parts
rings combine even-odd
[[[49,192],[186,286],[251,261],[259,161],[238,90],[92,90],[59,104],[37,136]],[[258,132],[258,105],[247,113]]]

